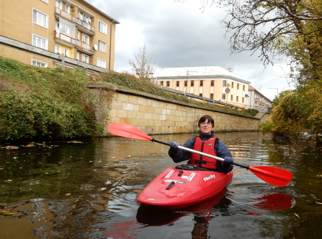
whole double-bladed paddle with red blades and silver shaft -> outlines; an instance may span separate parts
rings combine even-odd
[[[121,136],[121,137],[126,137],[126,138],[133,138],[133,139],[140,139],[140,140],[151,140],[152,142],[158,142],[163,145],[168,145],[168,142],[158,140],[155,138],[150,137],[146,133],[144,133],[142,130],[128,124],[122,124],[122,123],[111,123],[109,125],[109,130],[112,134]],[[217,159],[220,161],[224,161],[224,159],[213,156],[213,155],[208,155],[202,152],[198,152],[195,150],[191,150],[182,146],[178,147],[181,150],[184,151],[189,151],[195,154],[203,155],[212,159]],[[273,184],[275,186],[285,186],[287,185],[293,177],[293,174],[285,169],[282,168],[277,168],[273,166],[245,166],[242,164],[238,163],[232,163],[233,165],[249,169],[252,173],[254,173],[257,177],[262,179],[265,182],[268,182],[270,184]]]

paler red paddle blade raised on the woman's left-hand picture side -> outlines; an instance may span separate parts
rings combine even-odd
[[[109,131],[110,133],[120,137],[140,140],[152,140],[152,138],[142,130],[129,124],[111,123],[109,125]]]

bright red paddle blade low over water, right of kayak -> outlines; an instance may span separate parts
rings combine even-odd
[[[252,166],[249,170],[265,182],[280,187],[289,184],[293,178],[290,171],[272,166]]]

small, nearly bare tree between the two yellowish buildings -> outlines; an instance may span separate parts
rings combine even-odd
[[[151,81],[154,73],[154,63],[152,64],[152,59],[148,58],[145,42],[143,47],[140,47],[140,53],[137,55],[134,54],[134,57],[135,61],[129,60],[129,63],[132,67],[131,70],[138,78]]]

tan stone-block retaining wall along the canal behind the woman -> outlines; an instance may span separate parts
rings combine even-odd
[[[103,88],[104,84],[86,86]],[[214,131],[260,131],[258,125],[269,118],[269,114],[253,118],[210,111],[138,90],[119,86],[115,86],[115,89],[109,123],[130,124],[147,134],[193,133],[198,130],[199,118],[206,114],[214,119]],[[108,135],[110,133],[106,126],[103,136]]]

